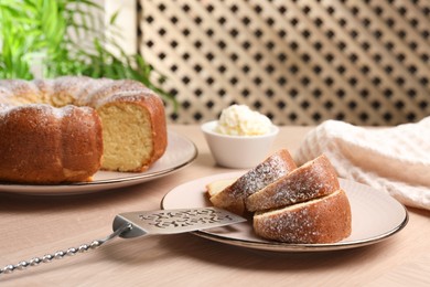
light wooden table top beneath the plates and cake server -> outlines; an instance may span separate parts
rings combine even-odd
[[[76,247],[111,232],[121,212],[153,210],[174,187],[227,172],[215,166],[197,126],[197,159],[168,177],[73,196],[0,194],[0,266]],[[272,149],[292,153],[309,127],[282,127]],[[192,234],[115,240],[104,247],[0,276],[1,286],[419,286],[430,284],[430,212],[409,210],[408,225],[375,245],[326,253],[270,253]]]

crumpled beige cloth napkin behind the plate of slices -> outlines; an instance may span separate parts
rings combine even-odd
[[[389,128],[327,120],[294,155],[302,164],[325,153],[341,178],[385,191],[408,206],[430,210],[430,117]]]

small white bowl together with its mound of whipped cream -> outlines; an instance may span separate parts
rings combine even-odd
[[[202,131],[217,164],[248,169],[269,156],[279,128],[248,106],[233,105],[218,120],[203,124]]]

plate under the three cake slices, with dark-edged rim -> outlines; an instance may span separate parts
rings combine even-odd
[[[170,191],[161,203],[163,209],[211,206],[205,185],[221,179],[235,179],[243,173],[222,173],[197,179]],[[265,241],[252,232],[250,222],[194,232],[194,234],[230,245],[275,252],[318,252],[346,249],[374,244],[399,232],[408,222],[402,204],[370,187],[340,179],[352,209],[352,234],[332,244],[288,244]]]

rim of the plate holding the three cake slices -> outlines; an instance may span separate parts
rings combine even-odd
[[[174,191],[175,189],[184,185],[184,184],[191,184],[193,181],[205,180],[205,179],[209,179],[209,178],[214,178],[214,177],[219,177],[219,178],[224,178],[224,176],[225,176],[225,178],[232,177],[232,176],[237,177],[240,173],[244,173],[244,172],[215,173],[212,176],[207,176],[207,177],[203,177],[203,178],[198,178],[195,180],[184,182],[184,183],[171,189],[168,193],[165,193],[161,200],[160,206],[161,206],[161,209],[164,209],[163,203],[164,203],[165,198],[169,195],[169,193]],[[355,240],[355,241],[350,241],[350,242],[340,241],[340,242],[335,242],[335,243],[321,243],[321,244],[307,244],[307,243],[291,244],[291,243],[266,241],[266,240],[261,240],[261,241],[257,242],[257,241],[239,240],[239,238],[232,238],[232,237],[228,238],[226,236],[217,235],[217,234],[205,232],[205,231],[195,231],[195,232],[191,232],[191,234],[206,238],[206,240],[211,240],[214,242],[223,243],[223,244],[228,244],[228,245],[245,247],[245,248],[251,248],[251,249],[259,249],[259,251],[283,252],[283,253],[284,252],[290,252],[290,253],[326,252],[326,251],[351,249],[351,248],[357,248],[357,247],[363,247],[363,246],[379,243],[381,241],[389,238],[394,234],[400,232],[408,224],[409,212],[408,212],[407,208],[402,203],[400,203],[399,201],[394,199],[393,196],[385,194],[384,192],[381,192],[373,187],[369,187],[367,184],[361,183],[361,182],[356,182],[356,181],[353,181],[350,179],[343,179],[343,178],[338,178],[338,180],[340,180],[340,182],[344,181],[344,182],[350,182],[353,184],[365,185],[368,189],[373,189],[373,190],[380,192],[381,194],[390,198],[390,200],[393,200],[395,202],[395,204],[399,204],[399,206],[401,206],[402,211],[405,212],[401,222],[399,222],[396,227],[394,227],[385,233],[378,234],[376,236],[372,236],[369,238]]]

